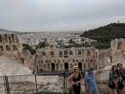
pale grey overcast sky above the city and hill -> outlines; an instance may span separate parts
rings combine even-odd
[[[85,31],[125,23],[125,0],[0,0],[0,28]]]

